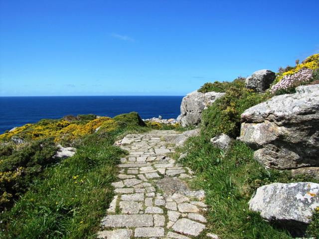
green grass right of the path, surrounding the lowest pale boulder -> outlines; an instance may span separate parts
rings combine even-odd
[[[220,239],[291,239],[289,232],[264,221],[250,212],[248,201],[254,191],[273,182],[308,181],[293,178],[289,172],[264,169],[253,159],[253,151],[244,143],[234,141],[225,154],[212,146],[204,136],[191,138],[177,151],[188,152],[182,159],[196,174],[191,185],[206,192],[208,232]],[[318,220],[314,221],[314,225]],[[318,232],[313,226],[309,234]],[[311,228],[311,227],[310,227]],[[317,231],[316,231],[317,230]]]

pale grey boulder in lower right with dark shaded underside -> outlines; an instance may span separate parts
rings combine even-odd
[[[303,236],[319,207],[319,184],[310,182],[272,183],[257,189],[249,209],[268,221]]]

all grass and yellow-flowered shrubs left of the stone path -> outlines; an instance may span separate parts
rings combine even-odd
[[[23,139],[21,144],[8,140],[12,131],[2,135],[0,238],[95,238],[113,197],[115,166],[126,154],[113,144],[125,134],[149,128],[137,113],[67,119],[41,120],[13,130],[11,137]],[[66,134],[70,125],[78,133]],[[100,127],[97,132],[95,127]],[[52,161],[55,142],[75,146],[76,154]]]

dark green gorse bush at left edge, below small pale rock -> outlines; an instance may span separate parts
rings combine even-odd
[[[0,209],[8,208],[32,180],[54,162],[53,138],[35,140],[22,147],[0,146]]]

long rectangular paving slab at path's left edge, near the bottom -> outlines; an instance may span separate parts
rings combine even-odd
[[[153,227],[150,214],[108,215],[102,220],[105,228]]]

